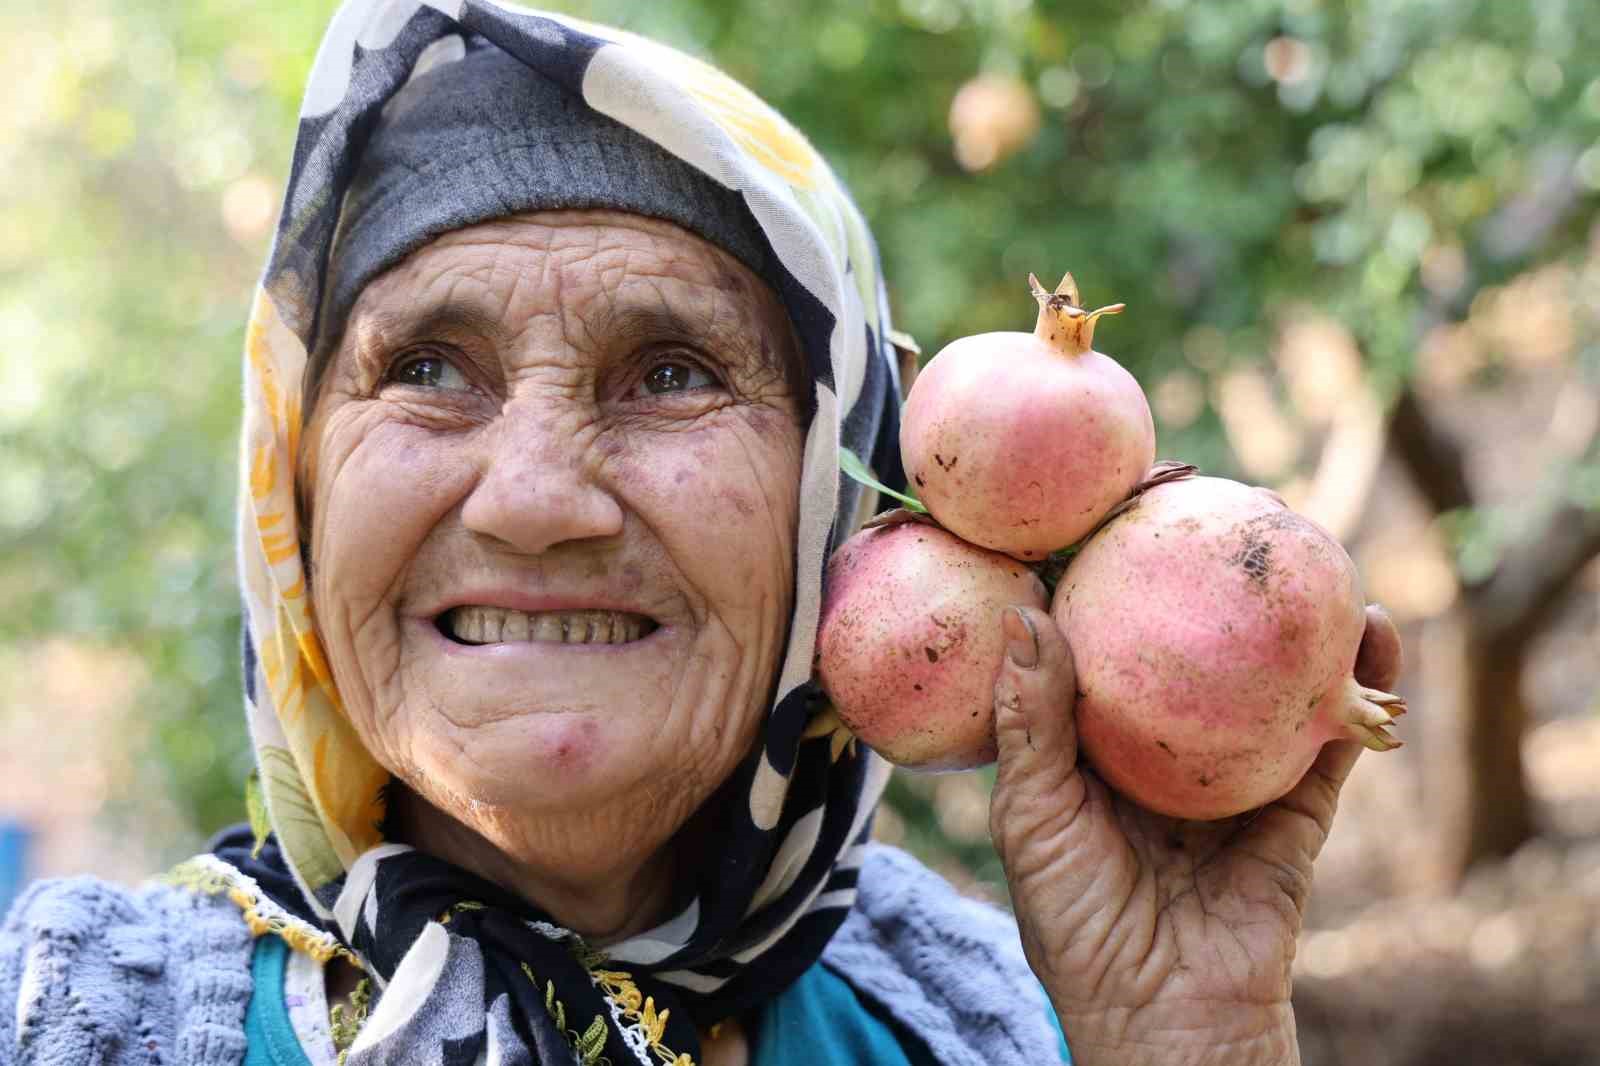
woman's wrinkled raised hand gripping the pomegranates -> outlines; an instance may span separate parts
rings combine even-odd
[[[1152,815],[1078,760],[1075,677],[1050,615],[1005,611],[1000,771],[989,823],[1029,964],[1078,1066],[1298,1063],[1290,962],[1360,744],[1330,743],[1301,783],[1216,823]],[[1400,639],[1366,610],[1355,674],[1390,688]]]

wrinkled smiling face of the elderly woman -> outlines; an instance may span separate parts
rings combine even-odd
[[[472,226],[371,282],[302,469],[317,624],[373,755],[517,848],[682,826],[786,645],[795,359],[754,274],[632,214]]]

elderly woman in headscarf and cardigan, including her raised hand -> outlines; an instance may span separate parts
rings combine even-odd
[[[1011,610],[1016,922],[869,842],[888,768],[810,671],[838,450],[898,472],[886,338],[854,208],[715,70],[349,3],[246,351],[253,826],[19,901],[0,1061],[1296,1061],[1352,744],[1251,818],[1149,815]],[[1373,615],[1365,680],[1397,658]]]

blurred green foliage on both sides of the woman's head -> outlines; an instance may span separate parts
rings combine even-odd
[[[333,3],[14,8],[0,14],[16,93],[0,117],[0,642],[133,648],[149,755],[208,831],[242,816],[250,763],[230,562],[242,323],[262,198],[275,205]],[[1424,315],[1576,258],[1600,190],[1600,21],[1579,3],[568,10],[714,59],[808,131],[928,352],[1026,328],[1027,274],[1072,269],[1086,299],[1128,303],[1098,339],[1146,386],[1261,363],[1277,317],[1312,306],[1354,330],[1387,392],[1413,371]],[[947,112],[981,70],[1022,78],[1043,118],[973,174]],[[1451,248],[1458,277],[1424,269]],[[1600,349],[1582,343],[1592,370]],[[1162,426],[1162,455],[1234,469],[1210,410]],[[1574,467],[1571,491],[1600,496],[1594,471]],[[1474,559],[1494,543],[1491,522],[1459,528]]]

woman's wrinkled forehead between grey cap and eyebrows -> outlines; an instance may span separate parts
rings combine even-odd
[[[776,295],[736,258],[672,222],[619,211],[541,211],[451,230],[374,279],[349,325],[382,328],[446,303],[502,331],[557,320],[592,333],[667,309],[688,330],[789,333]]]

